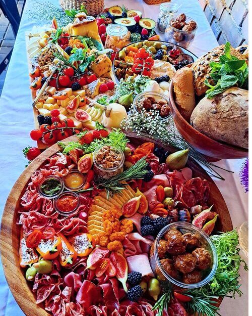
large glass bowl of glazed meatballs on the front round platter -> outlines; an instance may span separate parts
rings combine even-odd
[[[171,223],[159,232],[150,261],[157,279],[173,289],[206,285],[214,277],[218,264],[211,239],[187,222]]]

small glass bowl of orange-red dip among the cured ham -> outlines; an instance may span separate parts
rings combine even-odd
[[[65,191],[53,201],[53,207],[60,215],[72,215],[80,206],[80,197],[75,192]]]

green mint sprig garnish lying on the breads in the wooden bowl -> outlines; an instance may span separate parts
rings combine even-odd
[[[246,61],[232,56],[230,48],[230,43],[227,42],[224,55],[220,56],[220,62],[210,62],[209,64],[212,68],[210,76],[215,82],[215,85],[212,85],[207,79],[204,81],[210,87],[206,92],[206,96],[209,99],[214,98],[234,85],[248,89],[248,66]]]

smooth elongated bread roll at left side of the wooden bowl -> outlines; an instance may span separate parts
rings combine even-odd
[[[195,108],[194,78],[191,68],[179,69],[172,78],[175,103],[183,118],[190,121]]]

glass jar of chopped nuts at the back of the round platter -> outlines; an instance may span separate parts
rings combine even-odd
[[[99,178],[109,179],[123,171],[124,154],[119,148],[102,145],[94,151],[93,160]]]

